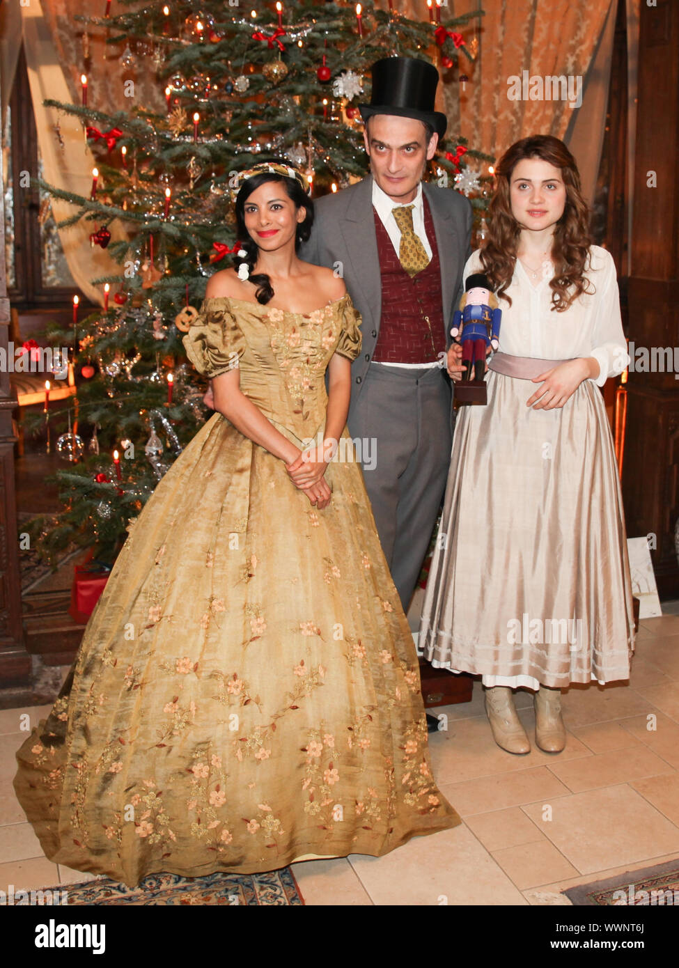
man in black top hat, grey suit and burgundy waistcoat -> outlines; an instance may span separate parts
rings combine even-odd
[[[447,125],[434,110],[438,80],[413,58],[373,65],[370,104],[359,105],[371,174],[315,202],[299,253],[342,273],[363,318],[348,427],[376,448],[363,477],[404,611],[448,476],[448,376],[462,367],[461,350],[447,349],[472,226],[465,197],[422,182]]]

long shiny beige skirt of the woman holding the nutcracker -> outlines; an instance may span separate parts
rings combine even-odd
[[[422,609],[432,665],[542,685],[627,680],[633,597],[620,480],[599,388],[526,407],[488,373],[463,408]]]

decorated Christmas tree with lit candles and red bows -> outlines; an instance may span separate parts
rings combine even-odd
[[[123,0],[116,10],[130,9],[116,15],[110,6],[100,18],[81,18],[83,50],[88,32],[105,31],[108,56],[120,56],[131,74],[155,72],[159,97],[106,114],[87,106],[83,79],[82,105],[47,102],[81,119],[98,165],[89,198],[41,185],[77,206],[64,224],[89,220],[92,243],[110,242],[120,272],[92,281],[108,287],[103,311],[85,319],[74,311],[69,330],[50,334],[74,350],[77,426],[57,441],[72,465],[58,474],[64,510],[34,522],[47,554],[77,541],[94,544],[108,563],[129,519],[205,419],[204,386],[181,338],[207,278],[238,248],[234,173],[278,157],[307,172],[315,196],[341,189],[367,171],[356,104],[369,100],[370,65],[420,57],[464,79],[464,58],[474,56],[463,33],[469,17],[448,20],[446,6],[429,6],[429,22],[370,0],[286,0],[252,11],[231,0],[141,9]],[[429,177],[484,208],[490,179],[480,162],[492,159],[454,137],[439,147]],[[125,237],[111,242],[114,220]]]

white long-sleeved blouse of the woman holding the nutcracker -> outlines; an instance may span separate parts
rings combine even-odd
[[[482,271],[477,250],[465,266],[465,282],[473,272]],[[511,306],[504,297],[498,300],[502,310],[499,350],[511,356],[553,360],[593,356],[599,363],[599,377],[594,380],[599,386],[607,378],[622,373],[630,356],[620,318],[615,263],[610,253],[593,245],[585,275],[596,291],[579,296],[564,313],[557,313],[551,309],[548,278],[532,286],[517,258],[507,290]]]

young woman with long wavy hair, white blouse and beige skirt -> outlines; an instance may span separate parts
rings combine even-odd
[[[627,680],[633,598],[620,481],[600,387],[629,362],[613,259],[592,245],[566,145],[531,136],[497,166],[485,273],[502,310],[486,407],[458,415],[419,648],[479,674],[495,741],[566,743],[561,689]]]

